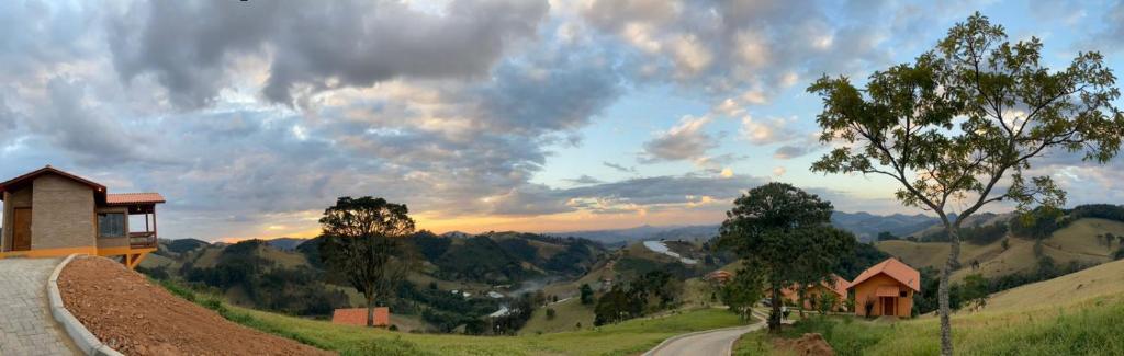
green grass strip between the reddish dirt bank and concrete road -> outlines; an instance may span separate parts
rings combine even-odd
[[[632,355],[674,335],[740,323],[728,311],[707,309],[581,331],[479,337],[396,332],[229,308],[238,322],[345,355],[368,344],[375,346],[366,353],[380,355]]]

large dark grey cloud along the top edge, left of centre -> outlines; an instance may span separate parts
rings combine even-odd
[[[266,58],[262,94],[293,103],[294,92],[486,75],[547,8],[456,0],[438,15],[398,1],[154,1],[115,13],[108,31],[121,77],[151,74],[181,107],[212,102],[241,56]]]

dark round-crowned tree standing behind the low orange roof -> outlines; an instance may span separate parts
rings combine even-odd
[[[416,261],[402,239],[414,232],[405,204],[382,198],[343,197],[320,218],[324,243],[320,258],[345,276],[366,302],[366,326],[374,326],[378,299],[398,289]]]

